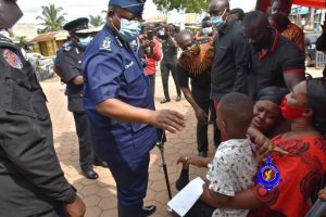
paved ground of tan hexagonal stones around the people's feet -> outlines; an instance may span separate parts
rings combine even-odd
[[[310,73],[314,76],[321,76],[322,69],[310,68]],[[168,177],[173,195],[176,193],[175,181],[178,178],[180,166],[176,165],[176,161],[180,155],[197,154],[196,150],[196,118],[192,108],[186,100],[161,105],[159,103],[163,98],[163,90],[161,85],[161,76],[156,75],[156,108],[176,110],[186,116],[186,128],[183,132],[177,135],[167,133],[167,142],[165,143],[165,158],[167,164]],[[50,110],[53,123],[53,136],[55,150],[61,162],[61,166],[65,171],[66,178],[78,190],[78,194],[83,197],[87,205],[86,217],[115,217],[116,214],[116,189],[115,182],[109,169],[95,167],[99,174],[98,180],[88,180],[80,175],[78,164],[78,143],[75,133],[75,125],[72,113],[67,112],[66,98],[64,97],[64,86],[62,86],[58,78],[53,78],[41,82],[43,90],[49,100],[48,106]],[[170,80],[171,97],[176,97],[175,87]],[[214,154],[212,141],[212,126],[210,126],[210,151],[209,155]],[[155,148],[151,152],[150,162],[150,181],[148,187],[148,194],[145,204],[154,204],[158,206],[158,212],[154,217],[171,216],[166,212],[166,203],[168,201],[164,175],[161,165],[161,155]],[[190,169],[190,176],[204,176],[204,169]]]

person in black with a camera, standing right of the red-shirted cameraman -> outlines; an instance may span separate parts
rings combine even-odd
[[[162,50],[163,50],[163,60],[161,62],[161,76],[162,76],[162,85],[164,90],[164,99],[160,102],[161,104],[170,102],[170,94],[168,94],[168,76],[170,71],[172,73],[172,77],[175,82],[175,88],[177,91],[177,98],[175,101],[181,100],[181,89],[178,85],[177,78],[177,53],[178,53],[178,46],[174,40],[174,36],[177,34],[178,29],[176,26],[170,24],[164,25],[158,30],[158,38],[162,42]]]

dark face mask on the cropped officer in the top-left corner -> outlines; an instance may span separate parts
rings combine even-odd
[[[22,16],[16,1],[0,0],[0,27],[12,28]]]

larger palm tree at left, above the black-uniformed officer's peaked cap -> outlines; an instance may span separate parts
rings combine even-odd
[[[41,7],[42,16],[37,16],[36,20],[41,21],[41,26],[45,28],[38,30],[39,33],[50,33],[58,31],[62,29],[65,22],[64,16],[66,13],[62,13],[63,9],[61,7],[55,8],[54,4],[49,4],[47,7]]]

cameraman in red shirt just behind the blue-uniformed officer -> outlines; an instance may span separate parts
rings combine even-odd
[[[161,43],[154,37],[154,26],[147,24],[143,27],[142,35],[139,36],[142,47],[142,60],[146,62],[143,68],[146,75],[150,79],[153,99],[155,98],[155,73],[156,62],[162,58]]]

